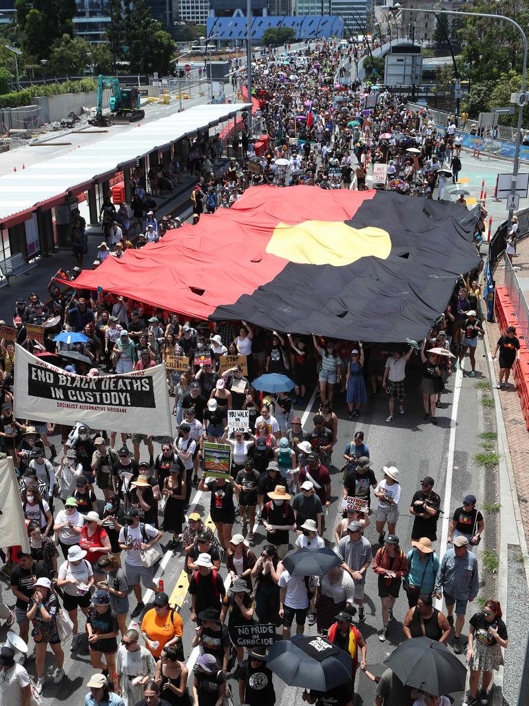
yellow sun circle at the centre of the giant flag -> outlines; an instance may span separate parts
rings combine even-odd
[[[343,222],[308,220],[290,225],[278,223],[269,239],[267,253],[301,265],[343,267],[373,256],[385,260],[391,238],[382,228],[353,228]]]

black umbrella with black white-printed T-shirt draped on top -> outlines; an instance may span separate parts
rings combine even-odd
[[[296,635],[274,642],[267,666],[288,686],[328,691],[351,680],[351,655],[319,637]]]

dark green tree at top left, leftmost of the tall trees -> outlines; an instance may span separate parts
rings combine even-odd
[[[73,35],[75,0],[15,0],[15,9],[23,48],[36,59],[49,59],[51,45]]]

